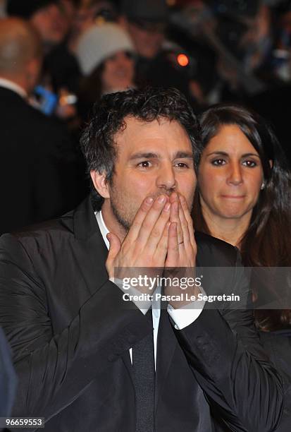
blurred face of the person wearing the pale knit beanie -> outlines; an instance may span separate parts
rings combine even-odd
[[[104,61],[104,71],[101,76],[102,91],[125,90],[132,87],[134,63],[132,56],[124,51],[116,52]]]

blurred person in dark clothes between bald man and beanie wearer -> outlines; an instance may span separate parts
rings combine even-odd
[[[39,107],[47,115],[56,115],[70,121],[76,115],[75,105],[68,103],[67,95],[75,94],[80,80],[80,69],[75,56],[67,46],[67,37],[77,11],[73,0],[8,0],[8,16],[23,18],[39,33],[44,52],[37,95],[47,92],[51,99],[49,109]]]

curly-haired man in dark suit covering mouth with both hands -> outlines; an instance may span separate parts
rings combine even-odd
[[[221,288],[248,296],[237,250],[194,234],[199,127],[185,97],[105,95],[81,145],[87,200],[0,239],[0,324],[19,383],[13,415],[44,416],[45,431],[275,430],[281,378],[252,311],[129,307],[113,279],[117,268],[173,277],[221,265],[231,268]]]

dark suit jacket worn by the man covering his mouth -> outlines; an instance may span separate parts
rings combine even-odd
[[[225,289],[245,293],[235,248],[205,234],[196,239],[197,264],[234,266]],[[107,253],[89,199],[58,220],[1,236],[0,323],[19,376],[13,415],[44,416],[45,431],[135,431],[128,350],[152,328],[109,281]],[[273,431],[282,401],[251,311],[204,310],[180,331],[161,311],[156,432],[210,432],[218,424]]]

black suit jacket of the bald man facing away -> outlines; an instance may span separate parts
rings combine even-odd
[[[76,159],[67,133],[16,92],[0,87],[0,234],[77,205]]]

